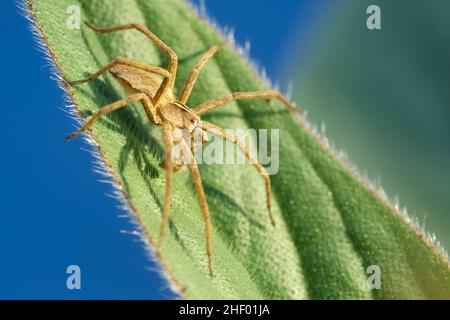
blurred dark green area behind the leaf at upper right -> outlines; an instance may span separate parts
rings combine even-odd
[[[450,1],[326,2],[287,54],[294,99],[448,249]],[[381,30],[366,27],[372,4]]]

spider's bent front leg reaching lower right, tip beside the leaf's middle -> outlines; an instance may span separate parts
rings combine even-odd
[[[267,173],[266,169],[258,162],[257,159],[255,159],[252,154],[250,153],[250,150],[240,142],[237,137],[221,127],[218,127],[212,123],[206,122],[202,120],[202,128],[211,132],[212,134],[215,134],[217,136],[222,137],[223,139],[230,141],[231,143],[234,143],[238,146],[238,148],[241,150],[242,153],[244,153],[245,157],[250,161],[251,164],[255,167],[255,169],[259,172],[259,174],[264,178],[265,186],[266,186],[266,203],[267,203],[267,210],[269,212],[269,218],[272,225],[275,226],[275,219],[272,215],[271,210],[271,187],[270,187],[270,177]]]

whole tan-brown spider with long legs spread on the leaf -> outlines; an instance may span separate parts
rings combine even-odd
[[[128,97],[118,100],[114,103],[102,107],[99,111],[93,114],[84,125],[71,135],[66,140],[72,139],[83,131],[86,131],[96,120],[103,115],[125,107],[133,102],[140,102],[148,116],[148,120],[154,124],[162,127],[162,138],[164,144],[164,159],[161,166],[165,169],[165,192],[163,203],[162,223],[160,227],[159,243],[157,251],[160,252],[163,243],[163,238],[167,232],[170,204],[172,198],[172,179],[173,173],[180,169],[183,164],[188,164],[192,173],[195,190],[198,194],[201,212],[205,221],[206,233],[206,251],[208,256],[208,269],[210,276],[213,275],[212,267],[212,226],[209,214],[208,204],[206,202],[205,192],[202,185],[202,180],[198,165],[194,158],[194,148],[189,148],[187,144],[181,144],[181,152],[184,160],[174,161],[173,150],[175,144],[180,144],[179,131],[190,138],[196,138],[201,135],[200,142],[206,143],[206,132],[219,136],[226,141],[234,143],[238,146],[246,158],[254,165],[259,174],[264,178],[266,189],[266,205],[269,213],[269,218],[272,225],[275,226],[275,220],[272,216],[270,205],[270,178],[263,166],[250,154],[248,148],[242,144],[236,136],[225,131],[212,123],[203,121],[200,116],[234,100],[249,100],[249,99],[272,99],[280,100],[287,108],[295,110],[293,105],[281,95],[278,91],[261,91],[261,92],[235,92],[229,95],[222,96],[213,101],[205,102],[189,108],[186,103],[191,94],[192,88],[197,81],[201,69],[205,63],[213,57],[219,50],[220,46],[212,46],[207,50],[198,60],[195,67],[190,72],[182,90],[181,94],[176,97],[174,94],[174,82],[177,73],[178,58],[175,52],[161,41],[155,34],[153,34],[144,25],[138,23],[116,25],[107,28],[99,28],[91,23],[86,22],[86,25],[94,31],[106,33],[119,30],[135,29],[146,35],[157,47],[163,50],[169,56],[169,63],[167,69],[156,66],[147,65],[138,61],[127,59],[124,57],[117,57],[111,63],[101,68],[90,77],[77,81],[69,81],[71,85],[77,85],[97,79],[104,72],[109,71],[114,78],[124,87],[130,94]],[[195,136],[195,137],[194,137]],[[186,161],[188,159],[188,161]]]

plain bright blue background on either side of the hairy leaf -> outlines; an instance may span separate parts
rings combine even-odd
[[[239,43],[250,40],[251,57],[283,84],[289,44],[308,39],[327,1],[257,3],[207,1],[206,9]],[[1,1],[0,12],[0,298],[173,297],[142,243],[121,232],[132,224],[106,196],[86,145],[64,143],[73,121],[28,22],[14,1]],[[81,267],[79,291],[66,288],[71,264]]]

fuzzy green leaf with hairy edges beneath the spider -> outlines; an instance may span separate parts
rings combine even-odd
[[[140,22],[180,58],[180,92],[200,55],[224,39],[180,0],[33,1],[30,10],[66,79],[84,78],[118,55],[166,66],[167,57],[142,34],[98,34],[66,28],[69,5],[100,26]],[[234,91],[267,89],[234,49],[208,62],[189,100],[191,107]],[[89,112],[126,93],[111,76],[67,87],[76,110]],[[272,227],[264,183],[251,166],[201,165],[212,213],[215,276],[207,268],[204,223],[189,172],[175,175],[171,227],[160,261],[187,298],[343,299],[448,298],[447,260],[402,214],[339,160],[303,118],[273,101],[230,103],[208,116],[224,128],[280,130],[279,172],[272,176]],[[139,106],[96,123],[90,137],[151,248],[157,241],[164,173],[160,127]],[[87,169],[87,168],[86,168]],[[367,288],[367,268],[381,270],[381,289]]]

